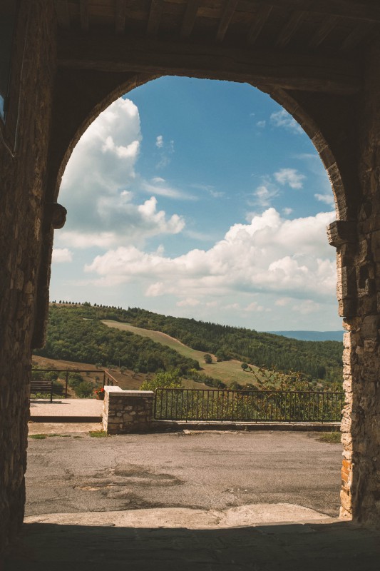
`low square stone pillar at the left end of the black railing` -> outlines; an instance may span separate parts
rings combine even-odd
[[[147,433],[153,418],[152,390],[104,387],[103,428],[107,434]]]

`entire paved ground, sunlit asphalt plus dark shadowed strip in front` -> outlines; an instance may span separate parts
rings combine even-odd
[[[342,452],[317,434],[38,426],[51,436],[29,440],[35,515],[1,571],[379,571],[379,532],[324,515]]]

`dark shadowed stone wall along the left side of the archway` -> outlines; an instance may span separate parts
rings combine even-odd
[[[21,1],[0,120],[0,551],[24,517],[36,268],[55,73],[53,2]]]

